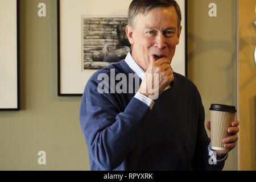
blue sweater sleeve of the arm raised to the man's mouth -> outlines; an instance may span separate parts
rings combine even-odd
[[[150,108],[133,97],[123,110],[115,94],[98,93],[89,80],[82,96],[80,125],[92,160],[103,170],[122,164]],[[123,110],[123,111],[122,111]]]

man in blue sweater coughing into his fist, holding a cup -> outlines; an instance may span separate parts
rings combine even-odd
[[[222,169],[226,154],[236,146],[239,123],[234,121],[228,130],[233,135],[224,141],[227,150],[210,157],[214,152],[200,94],[170,65],[180,39],[179,6],[173,0],[134,0],[128,20],[132,51],[125,60],[96,72],[82,97],[80,123],[91,169]],[[122,84],[122,89],[132,87],[133,93],[113,92],[121,80],[113,75],[122,74],[125,80],[131,73],[139,76],[139,88],[134,76]]]

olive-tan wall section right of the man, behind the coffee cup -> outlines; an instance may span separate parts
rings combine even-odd
[[[217,5],[217,17],[208,15],[212,2]],[[201,94],[205,122],[210,121],[210,104],[237,107],[236,10],[236,0],[188,1],[188,78]],[[236,147],[224,170],[237,170],[237,161]]]

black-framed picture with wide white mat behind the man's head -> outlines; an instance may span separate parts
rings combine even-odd
[[[131,0],[58,0],[58,96],[82,96],[98,69],[125,59],[131,50],[125,33]],[[180,43],[172,68],[187,76],[186,1]]]

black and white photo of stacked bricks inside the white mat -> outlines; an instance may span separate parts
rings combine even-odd
[[[101,69],[125,59],[130,51],[125,17],[82,16],[82,48],[84,69]]]

